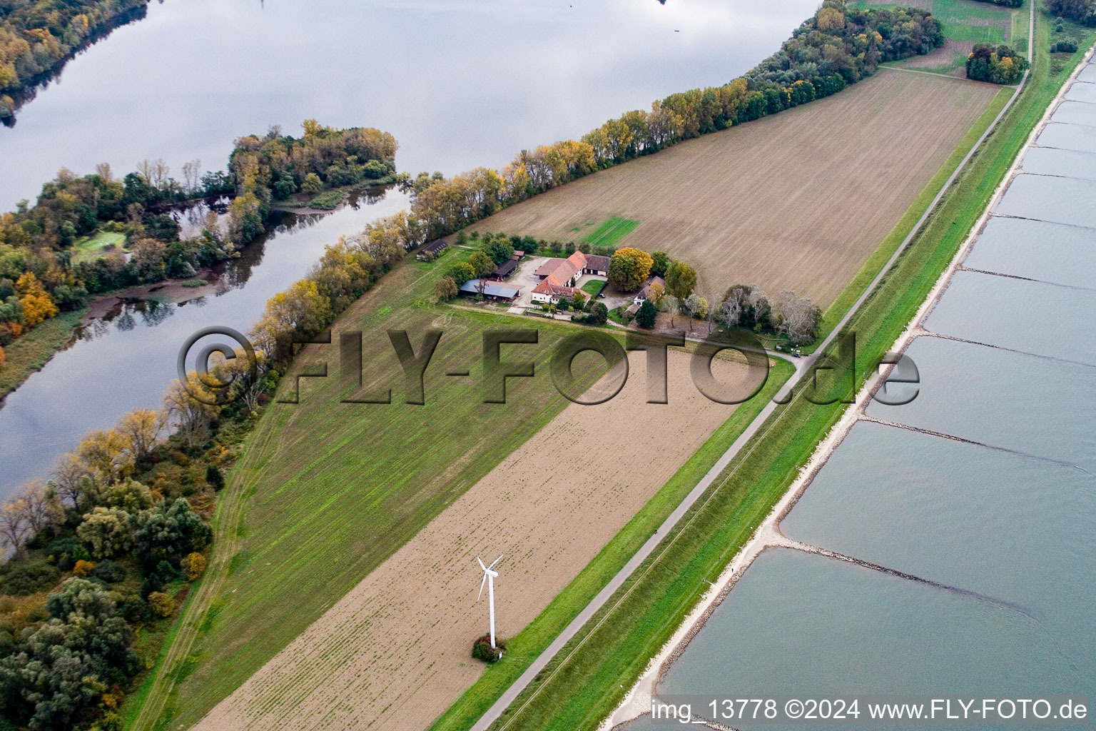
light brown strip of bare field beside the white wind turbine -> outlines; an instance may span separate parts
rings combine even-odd
[[[644,358],[631,354],[615,399],[564,409],[196,728],[429,726],[483,672],[469,656],[487,631],[475,557],[505,556],[498,630],[516,633],[732,413],[696,390],[680,352],[670,354],[670,403],[646,403]],[[712,372],[732,382],[746,368],[716,361]]]

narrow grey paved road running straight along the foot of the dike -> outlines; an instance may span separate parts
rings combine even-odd
[[[1028,21],[1029,25],[1032,26],[1032,32],[1029,33],[1028,37],[1035,37],[1034,8],[1035,3],[1032,3],[1032,13],[1031,18]],[[1030,49],[1028,50],[1028,55],[1030,56]],[[811,372],[811,368],[819,358],[819,354],[825,352],[825,350],[831,345],[831,343],[833,343],[834,339],[836,339],[841,330],[846,324],[848,324],[848,321],[853,318],[853,315],[856,313],[856,311],[860,308],[860,306],[864,305],[864,302],[867,300],[868,296],[876,289],[876,287],[879,286],[879,283],[882,282],[883,276],[894,265],[899,256],[902,255],[902,252],[905,251],[906,247],[910,245],[910,242],[913,241],[914,237],[916,236],[916,232],[928,219],[929,215],[932,215],[932,213],[936,209],[936,206],[944,197],[944,194],[947,192],[948,187],[950,187],[951,183],[954,183],[956,178],[959,176],[959,173],[967,167],[967,163],[970,162],[970,159],[974,156],[974,151],[978,150],[979,147],[981,147],[982,142],[985,141],[985,138],[989,137],[990,134],[996,128],[997,123],[1001,122],[1001,119],[1005,116],[1008,110],[1012,108],[1013,102],[1016,101],[1016,99],[1019,96],[1020,90],[1023,90],[1024,85],[1027,83],[1029,73],[1030,73],[1029,71],[1024,72],[1024,78],[1020,80],[1020,83],[1017,87],[1017,92],[1013,94],[1012,99],[1008,100],[1008,103],[1005,104],[1004,108],[1002,108],[1001,112],[997,114],[997,116],[993,119],[993,123],[989,126],[989,128],[986,128],[985,133],[983,133],[982,136],[978,139],[978,142],[973,147],[971,147],[970,151],[956,168],[955,172],[951,173],[948,180],[940,187],[939,192],[936,194],[936,197],[933,198],[933,202],[928,205],[928,208],[925,209],[925,213],[921,216],[921,218],[917,219],[917,222],[913,226],[913,228],[910,229],[910,235],[906,236],[905,239],[903,239],[902,243],[894,251],[891,258],[887,260],[887,263],[879,271],[876,277],[871,281],[871,284],[868,285],[868,287],[864,290],[864,293],[857,298],[856,302],[854,302],[853,306],[848,309],[848,312],[845,315],[845,317],[843,317],[841,321],[837,323],[837,325],[830,332],[830,334],[826,335],[825,340],[823,340],[822,343],[819,345],[819,347],[814,351],[814,354],[803,357],[798,362],[795,362],[796,373],[795,375],[792,375],[791,378],[788,379],[788,382],[785,384],[784,387],[780,388],[780,390],[777,392],[775,397],[776,401],[786,400],[786,397],[791,391],[791,389],[795,388],[795,386],[802,380],[804,375]],[[535,678],[545,667],[547,667],[548,663],[551,662],[551,660],[559,653],[559,651],[563,649],[563,646],[570,642],[571,639],[579,633],[579,630],[582,629],[583,625],[585,625],[591,618],[593,618],[593,616],[603,606],[605,606],[609,597],[613,596],[613,594],[616,593],[616,591],[624,585],[625,581],[628,580],[628,578],[636,571],[636,569],[638,569],[639,566],[654,552],[654,549],[659,546],[662,538],[666,536],[675,525],[677,525],[677,522],[681,521],[681,518],[685,515],[686,512],[688,512],[688,510],[693,506],[693,504],[696,503],[697,500],[699,500],[700,495],[704,494],[704,492],[709,487],[711,487],[711,483],[715,482],[719,473],[723,471],[723,469],[731,462],[732,459],[734,459],[734,457],[739,454],[739,452],[742,450],[742,447],[745,446],[745,444],[757,433],[757,430],[761,429],[761,425],[765,422],[765,420],[773,414],[778,404],[773,401],[765,404],[765,408],[762,409],[761,413],[758,413],[757,416],[752,422],[750,422],[750,425],[746,426],[745,431],[742,432],[739,438],[734,439],[734,443],[727,449],[727,452],[723,453],[723,455],[712,466],[712,468],[708,470],[708,473],[705,475],[704,478],[701,478],[701,480],[688,493],[688,495],[685,496],[685,499],[681,502],[681,504],[674,509],[674,512],[670,514],[670,516],[662,523],[662,525],[659,526],[659,529],[654,533],[654,535],[648,538],[647,542],[644,542],[643,546],[636,552],[636,555],[628,560],[628,562],[624,566],[624,568],[620,569],[620,571],[617,572],[615,576],[613,576],[609,583],[606,584],[606,586],[597,593],[597,595],[590,602],[590,604],[587,604],[585,608],[583,608],[582,612],[579,613],[579,615],[571,621],[571,624],[569,624],[563,629],[563,631],[560,632],[559,637],[557,637],[555,641],[552,641],[552,643],[549,644],[548,648],[543,653],[540,653],[540,655],[536,660],[533,661],[533,664],[529,665],[524,673],[522,673],[522,675],[514,682],[514,684],[511,685],[509,688],[506,688],[506,690],[502,694],[502,697],[500,697],[499,700],[496,700],[494,705],[491,706],[491,708],[489,708],[488,711],[479,719],[479,721],[476,722],[471,731],[487,731],[487,729],[492,723],[494,723],[500,716],[502,716],[502,712],[512,703],[514,703],[518,694],[521,694],[522,690],[524,690],[529,685],[529,683],[533,682],[533,678]],[[509,723],[506,726],[509,726]],[[505,729],[506,726],[503,726],[502,728]]]

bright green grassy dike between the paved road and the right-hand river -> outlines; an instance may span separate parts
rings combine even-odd
[[[1028,85],[852,319],[848,330],[857,334],[855,378],[849,379],[837,362],[836,347],[825,354],[823,361],[836,366],[831,372],[834,379],[830,381],[830,396],[852,396],[878,357],[902,332],[978,220],[1047,105],[1083,56],[1081,50],[1072,57],[1072,62],[1053,70],[1048,53],[1053,19],[1043,11],[1037,11],[1036,19],[1034,68]],[[1083,34],[1083,49],[1093,43],[1092,32],[1073,30]],[[995,100],[994,104],[998,102]],[[764,424],[659,550],[492,728],[572,731],[600,723],[708,589],[706,580],[718,576],[749,540],[751,526],[757,525],[784,494],[843,410],[840,403],[811,403],[799,389],[791,403]],[[498,666],[500,672],[503,669],[502,664]],[[499,696],[492,673],[484,674],[433,728],[469,728],[475,713],[460,709],[475,706],[486,710]]]

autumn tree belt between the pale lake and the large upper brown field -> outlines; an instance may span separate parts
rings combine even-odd
[[[406,244],[453,233],[596,170],[829,96],[884,61],[928,54],[943,43],[940,25],[927,11],[858,10],[825,0],[779,52],[722,87],[670,94],[649,112],[626,112],[579,140],[522,150],[501,171],[419,174],[410,182],[415,238]]]

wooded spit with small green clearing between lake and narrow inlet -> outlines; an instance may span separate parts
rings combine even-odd
[[[276,128],[238,139],[229,173],[202,174],[197,160],[183,165],[182,181],[162,160],[146,160],[122,179],[107,164],[83,176],[62,169],[33,207],[0,214],[0,353],[93,294],[191,277],[236,255],[263,232],[275,201],[298,192],[302,205],[315,194],[342,201],[332,189],[393,179],[395,155],[388,133],[308,119],[299,139]],[[172,209],[221,196],[233,196],[226,219],[210,210],[199,232],[181,238]]]

